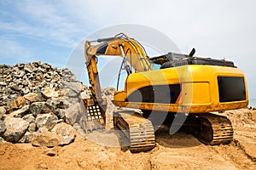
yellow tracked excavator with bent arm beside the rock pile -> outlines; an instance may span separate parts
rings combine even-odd
[[[91,85],[90,99],[83,99],[86,132],[106,126],[107,102],[102,98],[97,56],[108,55],[121,57],[120,71],[127,73],[124,88],[118,90],[118,85],[113,94],[113,104],[140,110],[113,112],[113,127],[125,134],[131,152],[154,148],[152,122],[162,118],[162,112],[188,116],[203,144],[229,144],[232,124],[218,113],[247,107],[245,76],[232,61],[194,54],[193,48],[188,55],[170,52],[149,58],[143,46],[124,33],[86,41],[84,57]],[[159,116],[150,116],[153,112]]]

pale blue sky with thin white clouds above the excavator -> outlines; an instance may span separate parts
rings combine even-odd
[[[256,99],[255,6],[253,0],[0,0],[0,64],[41,60],[68,67],[94,32],[142,25],[172,39],[183,54],[195,48],[196,56],[234,61],[246,75],[249,98]]]

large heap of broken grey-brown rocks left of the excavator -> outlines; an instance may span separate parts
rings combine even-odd
[[[77,131],[84,134],[81,92],[90,91],[68,69],[39,61],[0,65],[0,141],[71,143]]]

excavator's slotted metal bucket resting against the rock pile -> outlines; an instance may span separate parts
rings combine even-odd
[[[82,100],[81,110],[83,113],[83,122],[81,123],[85,133],[91,133],[93,130],[106,127],[106,109],[106,99],[102,99],[101,104],[94,99]]]

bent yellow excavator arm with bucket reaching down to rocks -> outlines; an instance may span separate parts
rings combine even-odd
[[[90,130],[104,127],[106,124],[105,110],[106,99],[102,99],[101,83],[97,69],[97,56],[119,56],[123,57],[123,68],[130,75],[132,71],[152,71],[150,60],[143,46],[136,40],[120,33],[114,37],[101,38],[95,41],[86,41],[84,45],[85,64],[90,81],[90,99],[84,99],[87,117],[91,123]],[[128,64],[129,63],[129,64]],[[95,110],[96,108],[96,110]],[[97,125],[101,126],[97,126]]]

